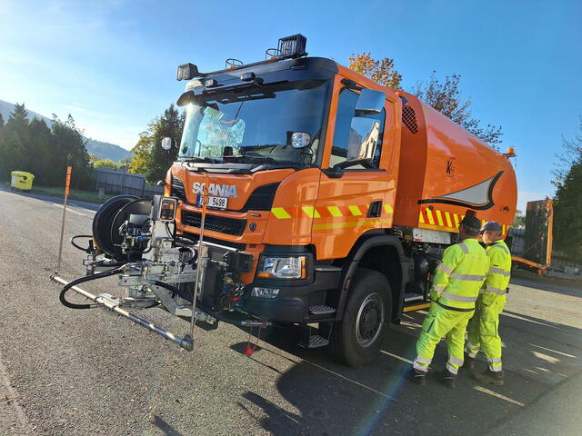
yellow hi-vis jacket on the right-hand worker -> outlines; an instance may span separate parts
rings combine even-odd
[[[511,275],[511,253],[503,240],[487,245],[489,271],[483,286],[486,303],[506,299],[507,285]]]

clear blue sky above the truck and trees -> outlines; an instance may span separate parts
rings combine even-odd
[[[176,65],[264,59],[301,33],[310,55],[390,57],[403,87],[461,74],[483,124],[503,127],[518,208],[554,193],[561,138],[582,115],[582,2],[0,0],[0,100],[72,114],[89,137],[130,149],[184,88]]]

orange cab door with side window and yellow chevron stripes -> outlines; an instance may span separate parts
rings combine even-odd
[[[392,226],[396,183],[388,172],[393,144],[392,134],[386,134],[386,119],[392,127],[394,104],[385,101],[379,114],[365,115],[379,123],[372,164],[333,169],[337,163],[346,162],[348,144],[357,135],[352,119],[359,94],[353,85],[344,85],[341,76],[336,79],[312,228],[319,260],[344,258],[360,235]],[[394,129],[387,130],[392,133]]]

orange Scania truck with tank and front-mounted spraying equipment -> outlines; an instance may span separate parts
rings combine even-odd
[[[307,57],[302,35],[267,54],[207,74],[178,67],[186,125],[165,195],[105,203],[87,276],[55,280],[75,305],[66,291],[116,273],[128,297],[85,296],[192,323],[295,324],[305,346],[366,364],[388,323],[427,307],[465,215],[507,234],[516,176],[507,154],[416,96]],[[191,335],[151,325],[192,348]]]

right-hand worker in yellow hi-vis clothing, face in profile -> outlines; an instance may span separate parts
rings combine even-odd
[[[483,242],[487,244],[489,271],[483,289],[477,299],[473,318],[467,326],[467,367],[475,369],[475,357],[482,351],[489,368],[476,374],[484,383],[503,384],[501,365],[501,338],[499,337],[499,314],[507,300],[507,284],[511,275],[511,253],[502,239],[501,225],[490,221],[481,229]]]

